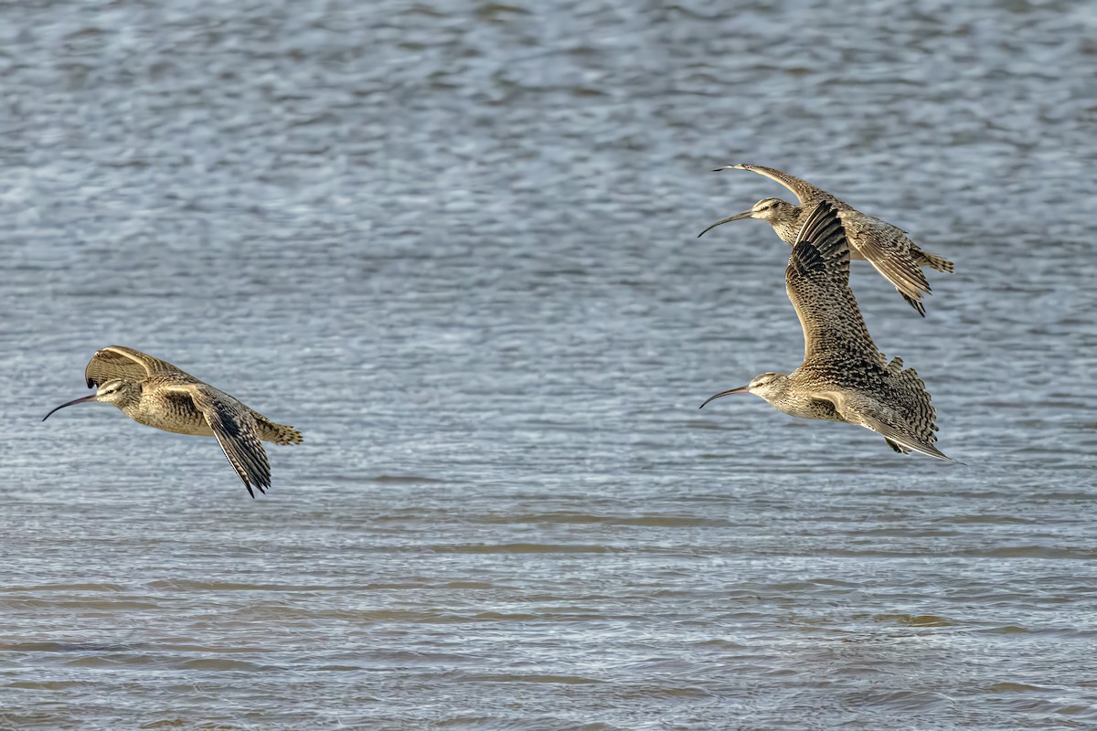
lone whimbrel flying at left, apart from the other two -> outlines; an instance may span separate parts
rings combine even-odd
[[[138,424],[176,434],[215,436],[252,498],[271,487],[271,468],[262,441],[301,444],[301,433],[275,424],[228,393],[204,384],[176,366],[132,347],[110,345],[95,353],[84,369],[91,396],[63,403],[113,403]],[[42,421],[49,419],[49,414]]]

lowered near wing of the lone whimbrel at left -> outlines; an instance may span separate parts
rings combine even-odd
[[[244,480],[244,487],[252,498],[271,487],[271,467],[267,460],[262,442],[248,408],[228,393],[206,384],[167,386],[166,390],[183,392],[191,397],[194,407],[202,412],[213,430],[222,452],[228,458],[236,473]]]

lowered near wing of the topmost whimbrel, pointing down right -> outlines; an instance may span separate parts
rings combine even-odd
[[[838,215],[849,245],[891,282],[911,307],[926,317],[921,296],[929,294],[929,282],[919,264],[923,254],[920,251],[915,254],[914,243],[903,229],[859,210],[842,210]]]

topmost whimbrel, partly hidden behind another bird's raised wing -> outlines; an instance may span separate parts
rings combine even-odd
[[[929,283],[919,267],[930,266],[938,272],[952,271],[952,262],[936,254],[926,253],[907,238],[906,231],[903,229],[862,214],[841,198],[787,172],[776,168],[750,164],[727,165],[719,168],[716,172],[721,170],[753,170],[760,175],[766,175],[766,178],[776,180],[792,191],[796,199],[800,201],[800,205],[794,206],[781,198],[762,198],[754,204],[749,210],[716,221],[701,231],[699,237],[722,224],[744,218],[760,218],[769,221],[782,241],[792,244],[795,243],[796,235],[800,233],[815,204],[827,201],[838,212],[838,217],[846,229],[850,259],[868,260],[878,272],[883,274],[885,279],[895,286],[895,289],[903,295],[903,299],[909,302],[911,307],[916,309],[921,317],[926,317],[921,295],[929,294]]]

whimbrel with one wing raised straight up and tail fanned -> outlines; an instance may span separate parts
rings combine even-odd
[[[948,459],[934,446],[936,413],[925,384],[903,361],[877,350],[849,288],[849,244],[841,212],[813,208],[784,270],[785,292],[804,331],[804,362],[716,393],[754,393],[801,419],[844,421],[883,435],[895,452]]]

